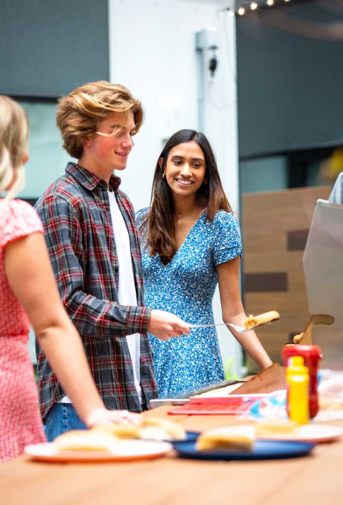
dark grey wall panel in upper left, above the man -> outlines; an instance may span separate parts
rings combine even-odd
[[[109,78],[107,0],[1,0],[0,93],[60,96]]]

